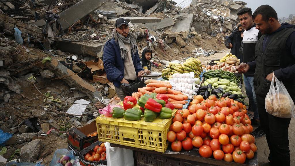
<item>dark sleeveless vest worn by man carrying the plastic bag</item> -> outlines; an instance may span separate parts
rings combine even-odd
[[[264,52],[263,39],[266,35],[261,36],[255,46],[256,67],[254,73],[254,89],[257,95],[266,96],[269,91],[271,81],[266,76],[275,70],[282,69],[295,64],[295,59],[286,54],[286,40],[294,32],[294,28],[285,28],[272,35]],[[292,98],[295,97],[295,78],[283,81],[286,89]]]

